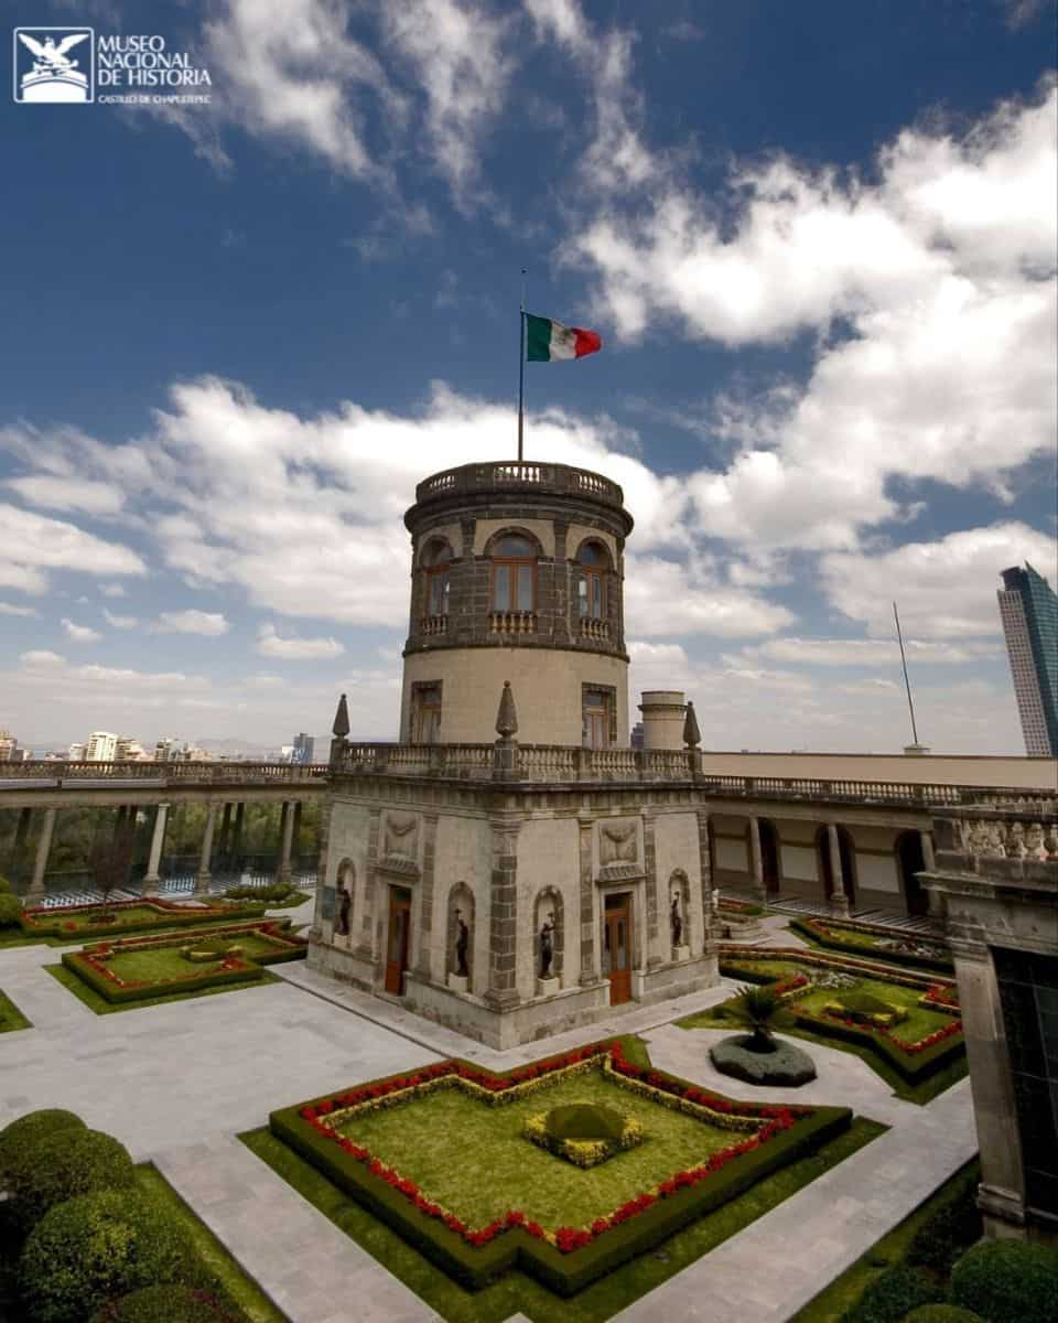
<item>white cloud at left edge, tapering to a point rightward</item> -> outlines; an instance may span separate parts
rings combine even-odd
[[[40,595],[48,570],[82,574],[144,574],[140,557],[74,524],[0,503],[0,587]]]

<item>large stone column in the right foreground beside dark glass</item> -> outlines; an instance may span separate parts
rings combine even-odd
[[[998,982],[984,942],[952,938],[951,949],[981,1150],[977,1205],[987,1233],[1009,1236],[1025,1224],[1025,1176]]]

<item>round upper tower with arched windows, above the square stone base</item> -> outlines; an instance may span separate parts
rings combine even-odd
[[[509,680],[525,744],[628,745],[624,493],[566,464],[463,464],[419,483],[402,744],[485,744]]]

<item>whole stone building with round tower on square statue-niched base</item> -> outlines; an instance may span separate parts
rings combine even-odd
[[[628,775],[620,487],[467,464],[405,523],[401,742],[350,745],[343,700],[309,963],[492,1046],[715,983],[676,696]]]

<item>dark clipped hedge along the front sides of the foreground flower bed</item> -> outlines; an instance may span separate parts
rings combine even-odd
[[[473,1069],[481,1070],[480,1066]],[[315,1131],[299,1114],[303,1106],[305,1103],[274,1111],[268,1118],[272,1134],[462,1286],[480,1290],[517,1266],[557,1295],[574,1295],[628,1259],[653,1249],[758,1180],[815,1151],[852,1122],[848,1107],[816,1107],[795,1121],[790,1130],[739,1155],[708,1180],[659,1199],[639,1216],[611,1226],[571,1254],[563,1254],[524,1226],[513,1226],[485,1245],[468,1245],[442,1220],[421,1213],[402,1193],[373,1176],[366,1166],[343,1154],[332,1140]]]

